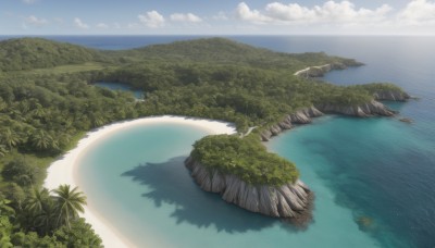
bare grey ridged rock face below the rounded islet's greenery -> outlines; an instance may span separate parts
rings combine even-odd
[[[203,190],[217,193],[222,199],[240,208],[274,218],[300,219],[304,214],[310,215],[312,193],[299,179],[278,187],[250,185],[234,175],[209,172],[191,157],[186,159],[185,164]]]

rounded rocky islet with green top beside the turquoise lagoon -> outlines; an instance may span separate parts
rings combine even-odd
[[[254,136],[207,136],[194,145],[186,166],[206,191],[251,212],[300,218],[312,199],[294,163],[269,153]],[[300,218],[302,219],[302,218]]]

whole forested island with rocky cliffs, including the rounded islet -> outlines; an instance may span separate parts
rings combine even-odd
[[[298,216],[312,193],[298,179],[296,165],[269,153],[260,140],[325,113],[395,114],[378,102],[409,98],[393,84],[344,87],[311,78],[360,65],[322,52],[288,54],[223,38],[123,51],[41,38],[1,41],[1,241],[100,246],[78,218],[84,197],[69,186],[50,195],[42,188],[46,169],[92,128],[165,114],[235,123],[240,134],[256,126],[244,137],[197,141],[186,165],[201,188],[228,202],[271,216]],[[144,90],[145,99],[95,87],[96,82],[126,84]],[[62,193],[78,203],[64,210]]]

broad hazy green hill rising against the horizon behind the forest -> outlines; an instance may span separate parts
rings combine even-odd
[[[355,60],[331,57],[324,52],[300,54],[275,52],[226,38],[203,38],[152,45],[139,49],[120,51],[117,54],[140,60],[239,64],[262,69],[286,69],[295,72],[306,65],[334,62],[359,65]]]

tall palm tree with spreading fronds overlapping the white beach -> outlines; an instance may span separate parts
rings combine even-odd
[[[54,201],[58,207],[58,225],[66,224],[71,228],[71,221],[78,218],[78,212],[84,212],[86,197],[77,187],[70,189],[70,185],[61,185],[53,190]]]

